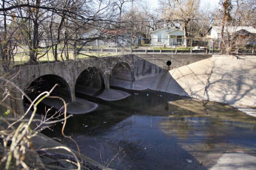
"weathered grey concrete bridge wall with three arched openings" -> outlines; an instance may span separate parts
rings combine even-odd
[[[30,65],[21,68],[14,83],[26,93],[30,93],[33,86],[38,86],[39,91],[48,91],[59,84],[53,95],[75,101],[76,91],[95,95],[99,90],[110,89],[111,85],[133,89],[134,81],[209,57],[211,55],[130,54]],[[22,93],[16,92],[14,96],[22,98]],[[23,100],[6,102],[16,114],[23,114]]]

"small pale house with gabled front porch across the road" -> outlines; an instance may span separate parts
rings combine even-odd
[[[151,45],[155,46],[171,46],[183,45],[184,31],[178,28],[167,26],[155,31],[151,31]]]

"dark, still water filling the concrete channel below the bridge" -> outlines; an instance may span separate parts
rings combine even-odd
[[[155,91],[126,92],[131,96],[120,101],[91,99],[99,103],[96,111],[68,119],[64,132],[86,156],[105,164],[119,153],[109,167],[160,170],[209,169],[222,152],[256,153],[256,118],[232,106]],[[60,123],[43,133],[76,150],[61,128]]]

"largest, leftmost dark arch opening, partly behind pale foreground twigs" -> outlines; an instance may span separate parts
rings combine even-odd
[[[68,82],[63,77],[55,74],[44,74],[31,79],[24,86],[24,92],[38,95],[43,91],[50,91],[55,84],[58,84],[58,86],[52,91],[52,96],[60,96],[72,100],[72,89]]]

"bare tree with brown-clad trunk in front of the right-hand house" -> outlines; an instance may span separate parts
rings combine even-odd
[[[252,6],[248,7],[247,3]],[[254,15],[256,4],[250,0],[221,0],[219,4],[220,8],[213,14],[213,25],[220,26],[221,47],[227,54],[238,53],[239,47],[255,39],[255,34],[247,29],[254,25],[251,16]]]

